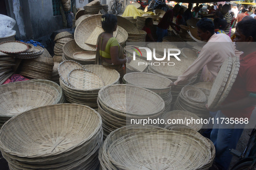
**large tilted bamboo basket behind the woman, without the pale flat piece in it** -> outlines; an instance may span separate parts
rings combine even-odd
[[[101,26],[101,14],[89,16],[83,21],[81,21],[76,29],[75,29],[75,42],[78,44],[79,47],[81,47],[84,50],[96,50],[96,45],[90,45],[86,44],[86,40],[90,37],[91,33],[93,33],[94,29],[97,27],[97,25]],[[128,21],[129,22],[129,21]],[[117,22],[118,25],[118,22]],[[118,25],[119,26],[119,25]],[[126,39],[128,38],[128,34],[125,31],[125,29],[121,28],[120,26],[117,29],[117,41],[120,44],[123,44]]]

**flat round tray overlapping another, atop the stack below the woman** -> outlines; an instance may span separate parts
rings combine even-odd
[[[85,90],[101,88],[105,85],[99,76],[87,69],[73,69],[68,74],[68,83],[73,88]]]

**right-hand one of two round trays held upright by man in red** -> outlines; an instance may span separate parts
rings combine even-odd
[[[227,98],[227,95],[229,94],[229,92],[233,86],[233,83],[235,82],[235,80],[237,78],[239,67],[240,67],[239,57],[233,57],[233,64],[232,64],[232,69],[231,69],[230,75],[227,79],[225,88],[224,88],[222,94],[220,95],[219,101],[216,106],[219,106],[220,104],[222,104],[224,102],[224,100]]]

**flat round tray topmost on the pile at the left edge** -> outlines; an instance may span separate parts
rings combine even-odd
[[[0,51],[3,53],[22,53],[29,49],[29,46],[21,41],[5,41],[0,43]]]

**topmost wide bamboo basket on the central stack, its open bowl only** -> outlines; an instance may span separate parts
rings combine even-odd
[[[98,100],[101,106],[109,110],[131,116],[153,116],[162,113],[165,108],[164,101],[158,94],[134,85],[101,88]]]

